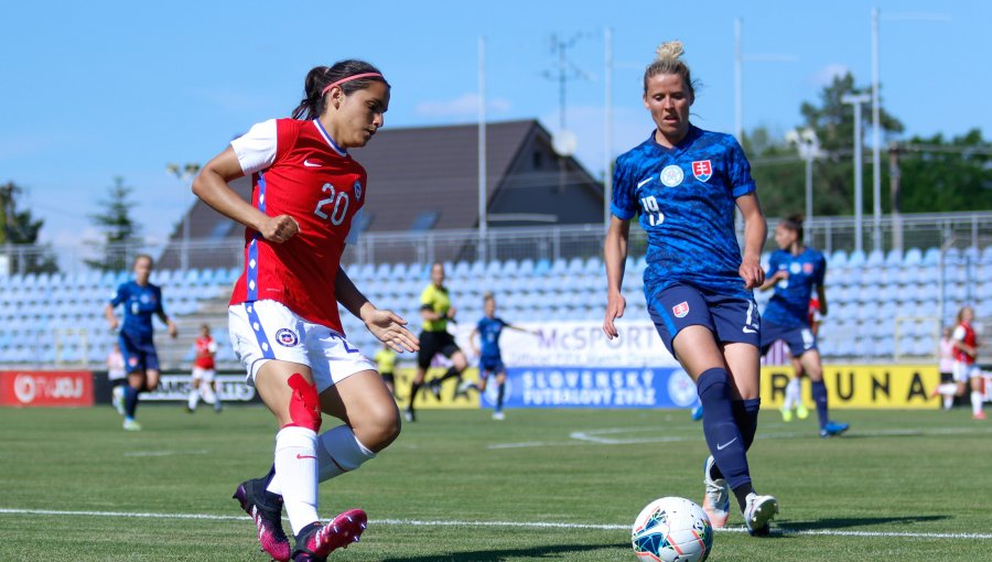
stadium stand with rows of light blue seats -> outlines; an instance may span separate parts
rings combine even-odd
[[[599,257],[457,260],[445,266],[462,322],[475,322],[482,315],[482,296],[488,291],[496,294],[500,314],[511,322],[602,320],[605,281]],[[645,268],[643,257],[627,260],[628,317],[644,317]],[[430,282],[429,263],[363,263],[346,269],[374,302],[399,312],[417,328],[420,293]],[[193,337],[204,322],[219,343],[220,365],[236,367],[226,312],[238,274],[237,268],[153,272],[152,282],[163,287],[166,311],[182,334],[175,342],[159,339],[165,368],[188,365]],[[115,337],[103,310],[127,279],[127,272],[96,271],[0,278],[0,364],[103,364]],[[830,314],[820,333],[827,360],[930,358],[940,326],[951,324],[960,306],[972,304],[980,318],[992,316],[992,246],[950,248],[942,260],[937,248],[867,255],[837,250],[829,255],[827,287]],[[769,296],[770,292],[756,294],[761,307]],[[359,348],[373,353],[378,347],[360,321],[345,311],[342,318]],[[162,334],[163,327],[159,325]]]

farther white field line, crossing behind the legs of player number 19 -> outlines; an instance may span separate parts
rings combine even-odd
[[[662,428],[607,428],[602,430],[573,431],[569,434],[569,441],[524,441],[517,443],[493,443],[486,448],[528,448],[528,447],[549,447],[549,446],[573,446],[573,445],[635,445],[639,443],[682,443],[697,442],[701,439],[700,434],[693,435],[655,435],[647,437],[611,437],[603,435],[616,435],[621,433],[637,433],[645,431],[662,431]],[[992,433],[992,428],[904,428],[893,430],[876,431],[858,431],[852,430],[849,435],[853,437],[893,437],[893,436],[914,436],[914,435],[981,435]],[[804,432],[774,432],[761,433],[757,439],[797,439],[797,437],[815,437],[816,433],[810,431]],[[840,437],[844,439],[844,437]]]

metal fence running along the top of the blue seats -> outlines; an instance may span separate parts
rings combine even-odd
[[[774,231],[777,219],[768,219],[768,231]],[[817,217],[805,225],[806,240],[827,255],[835,250],[852,251],[855,247],[853,217]],[[351,245],[344,256],[346,264],[364,263],[431,263],[433,261],[490,261],[508,259],[570,259],[599,256],[603,248],[603,225],[539,226],[489,228],[485,239],[478,231],[434,230],[427,233],[368,233],[357,244]],[[864,220],[864,248],[866,251],[934,247],[992,246],[992,212],[935,213],[885,216],[877,229],[871,217]],[[876,242],[877,244],[874,244]],[[130,263],[138,253],[149,253],[166,269],[230,268],[240,267],[242,242],[239,239],[172,240],[159,245],[121,245],[97,247],[91,244],[75,246],[8,245],[0,247],[0,275],[28,273],[54,256],[58,271],[78,274],[91,268],[86,260],[120,258]],[[644,253],[646,237],[640,228],[630,229],[629,252]]]

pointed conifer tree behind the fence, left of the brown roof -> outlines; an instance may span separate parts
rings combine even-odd
[[[89,215],[89,218],[104,233],[104,240],[94,242],[101,246],[103,259],[86,260],[86,264],[101,271],[121,271],[130,267],[130,257],[136,247],[141,245],[141,226],[131,218],[134,203],[130,201],[133,187],[125,185],[123,177],[115,177],[114,185],[107,188],[107,198],[99,202],[103,213]]]

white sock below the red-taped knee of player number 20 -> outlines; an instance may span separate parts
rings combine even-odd
[[[293,534],[317,517],[316,432],[290,425],[276,434],[276,475],[269,491],[281,494]],[[277,488],[277,489],[273,489]]]

